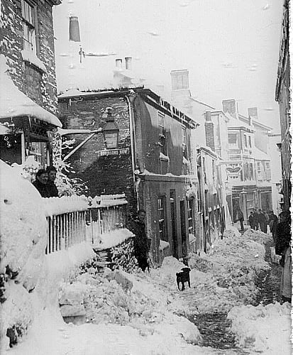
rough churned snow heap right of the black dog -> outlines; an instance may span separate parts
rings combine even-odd
[[[243,302],[253,302],[258,292],[255,277],[270,268],[264,261],[262,245],[231,235],[219,239],[209,255],[191,254],[190,278],[197,293],[194,306],[199,312],[225,311]]]

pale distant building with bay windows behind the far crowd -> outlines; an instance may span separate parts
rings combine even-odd
[[[244,219],[256,209],[272,209],[270,156],[267,155],[267,127],[257,121],[257,109],[249,109],[253,116],[238,114],[235,100],[223,101],[228,116],[228,182],[232,186],[233,221],[240,208]],[[262,138],[264,137],[264,138]]]

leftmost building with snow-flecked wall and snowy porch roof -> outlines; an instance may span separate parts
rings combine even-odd
[[[59,0],[1,1],[0,151],[9,163],[35,155],[51,163],[50,134],[55,116],[52,6]]]

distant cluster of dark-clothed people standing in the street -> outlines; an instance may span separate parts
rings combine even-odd
[[[273,211],[254,209],[250,212],[248,223],[251,229],[255,229],[256,231],[260,229],[263,233],[267,233],[267,226],[270,226],[270,232],[272,233],[272,237],[275,241],[278,218]]]

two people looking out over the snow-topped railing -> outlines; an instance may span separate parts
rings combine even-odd
[[[58,190],[55,185],[57,170],[54,166],[40,169],[35,175],[33,185],[40,192],[42,197],[58,197]]]

